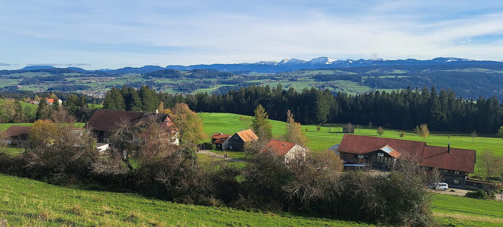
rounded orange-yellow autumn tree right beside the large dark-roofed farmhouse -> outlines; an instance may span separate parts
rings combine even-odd
[[[178,128],[180,146],[194,149],[197,144],[208,138],[204,133],[203,120],[185,103],[178,103],[171,110],[172,120]]]

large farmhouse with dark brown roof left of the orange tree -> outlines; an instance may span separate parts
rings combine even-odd
[[[98,109],[86,123],[86,126],[93,129],[99,143],[108,143],[111,132],[121,122],[130,121],[135,127],[137,127],[137,129],[140,129],[141,127],[144,127],[151,117],[153,117],[157,123],[170,126],[171,132],[174,134],[172,142],[178,145],[178,130],[171,121],[170,115],[158,113],[157,110],[155,110],[155,113],[148,113]]]

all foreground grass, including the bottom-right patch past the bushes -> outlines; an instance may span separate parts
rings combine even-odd
[[[9,226],[387,226],[178,204],[133,193],[60,187],[0,174],[0,216]],[[503,226],[503,202],[434,194],[432,211],[440,226]]]

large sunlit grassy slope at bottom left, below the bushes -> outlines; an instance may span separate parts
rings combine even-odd
[[[7,218],[10,226],[382,226],[177,204],[6,175],[0,175],[0,185],[0,217]]]

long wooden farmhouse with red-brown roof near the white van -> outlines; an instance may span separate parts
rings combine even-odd
[[[333,150],[333,149],[332,149]],[[419,166],[441,169],[452,187],[465,188],[468,173],[475,167],[475,150],[427,145],[426,142],[345,134],[335,150],[345,167],[378,170],[393,168],[397,160],[411,160]]]

